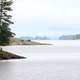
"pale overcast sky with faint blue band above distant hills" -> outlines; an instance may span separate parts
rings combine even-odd
[[[80,33],[80,0],[14,0],[16,36]]]

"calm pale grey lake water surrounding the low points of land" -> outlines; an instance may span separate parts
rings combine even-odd
[[[80,80],[80,41],[43,42],[3,47],[27,59],[0,61],[0,80]]]

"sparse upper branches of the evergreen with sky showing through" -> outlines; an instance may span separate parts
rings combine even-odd
[[[7,0],[2,0],[1,1],[1,10],[0,10],[0,18],[1,18],[1,23],[5,22],[8,24],[13,24],[13,22],[10,20],[11,15],[8,15],[7,12],[12,11],[11,5],[12,5],[12,0],[7,1]]]

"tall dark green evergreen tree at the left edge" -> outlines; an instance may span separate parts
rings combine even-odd
[[[10,20],[11,15],[8,14],[12,11],[12,0],[0,0],[0,45],[8,45],[10,38],[14,36],[9,28],[13,22]]]

